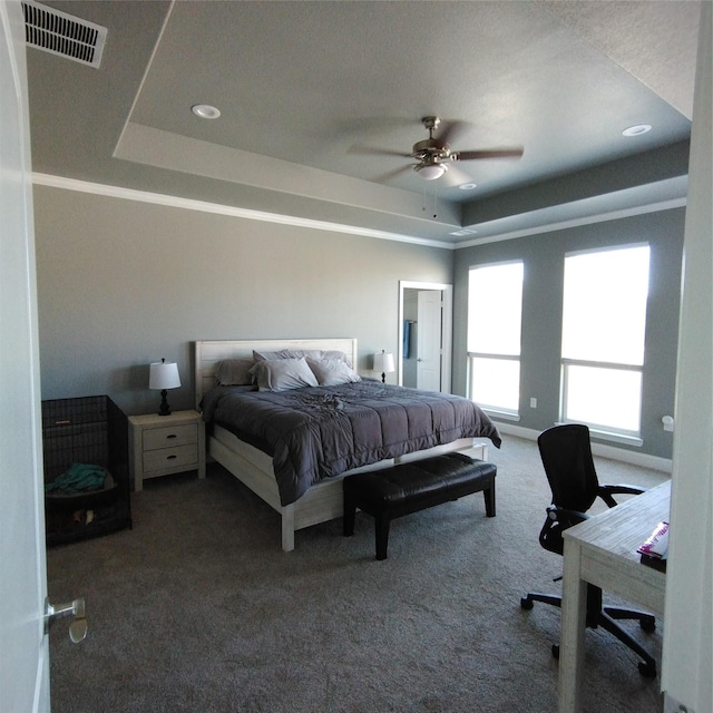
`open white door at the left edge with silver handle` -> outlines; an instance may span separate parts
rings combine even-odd
[[[49,711],[25,29],[18,0],[0,1],[0,711]]]

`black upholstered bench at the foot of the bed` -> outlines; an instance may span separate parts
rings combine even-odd
[[[495,517],[496,472],[494,463],[451,452],[350,476],[344,479],[344,537],[354,534],[356,508],[368,512],[375,521],[377,559],[385,559],[391,520],[481,490],[486,515]]]

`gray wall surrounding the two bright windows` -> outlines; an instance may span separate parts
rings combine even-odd
[[[646,321],[641,452],[672,456],[672,434],[661,418],[673,414],[685,209],[662,211],[456,252],[453,292],[453,392],[466,393],[468,270],[471,265],[520,258],[525,264],[520,421],[543,430],[559,413],[559,358],[564,257],[570,251],[648,241],[651,285]],[[605,290],[606,285],[602,285]],[[497,310],[497,295],[492,309]],[[537,409],[529,407],[537,397]]]

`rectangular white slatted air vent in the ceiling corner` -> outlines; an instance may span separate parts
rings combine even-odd
[[[107,28],[25,0],[25,40],[29,47],[99,67]]]

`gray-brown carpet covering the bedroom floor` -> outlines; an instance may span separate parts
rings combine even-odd
[[[536,445],[507,436],[497,517],[481,494],[395,520],[374,559],[356,515],[296,534],[217,465],[133,494],[134,528],[50,548],[50,598],[85,596],[89,633],[50,632],[55,713],[551,713],[561,559],[537,541],[550,494]],[[657,471],[597,459],[602,482],[651,487]],[[606,597],[605,599],[611,599]],[[661,661],[663,622],[632,632]],[[586,712],[660,713],[658,678],[600,629],[586,635]]]

